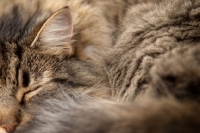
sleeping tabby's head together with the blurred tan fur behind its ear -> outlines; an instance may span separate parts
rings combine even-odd
[[[91,97],[110,95],[97,61],[98,52],[113,45],[114,18],[108,20],[107,13],[89,2],[1,3],[1,132],[10,133],[25,124],[41,101],[58,97],[60,91],[84,92]]]

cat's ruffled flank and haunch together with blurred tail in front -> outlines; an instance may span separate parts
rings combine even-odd
[[[62,93],[17,133],[200,132],[199,16],[198,0],[128,7],[101,60],[111,100]]]

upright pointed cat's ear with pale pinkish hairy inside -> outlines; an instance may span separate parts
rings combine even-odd
[[[31,47],[39,47],[51,54],[72,55],[73,25],[70,10],[65,7],[55,12],[41,27]]]

